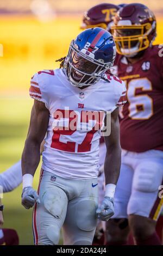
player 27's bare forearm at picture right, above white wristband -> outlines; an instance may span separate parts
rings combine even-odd
[[[106,151],[104,173],[105,173],[105,184],[117,184],[118,177],[120,175],[121,168],[121,147],[110,147]]]

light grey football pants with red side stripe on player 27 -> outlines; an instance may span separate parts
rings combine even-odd
[[[97,179],[68,180],[50,172],[40,175],[40,204],[33,212],[35,245],[91,245],[97,225]]]

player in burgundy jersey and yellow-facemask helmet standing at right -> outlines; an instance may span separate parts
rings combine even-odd
[[[160,245],[155,226],[163,203],[163,58],[159,45],[153,46],[155,16],[143,4],[128,4],[111,29],[115,70],[127,84],[128,101],[120,113],[122,165],[106,244],[125,244],[130,227],[136,245]]]

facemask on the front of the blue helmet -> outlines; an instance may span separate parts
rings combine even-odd
[[[91,57],[86,55],[88,53]],[[104,63],[102,59],[93,59],[93,56],[93,53],[87,52],[85,49],[79,51],[78,46],[74,45],[74,41],[71,42],[64,68],[66,76],[73,86],[83,87],[95,84],[113,65],[113,62]]]

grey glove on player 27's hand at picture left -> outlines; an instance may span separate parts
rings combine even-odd
[[[39,195],[33,187],[24,187],[22,191],[22,205],[26,208],[32,208],[35,204],[40,204]]]

